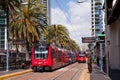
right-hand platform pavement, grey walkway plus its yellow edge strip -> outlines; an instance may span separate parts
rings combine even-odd
[[[92,73],[89,73],[86,66],[79,80],[111,80],[97,65],[93,64],[92,68]]]

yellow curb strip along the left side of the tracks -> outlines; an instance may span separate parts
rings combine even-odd
[[[25,71],[20,71],[20,72],[15,72],[15,73],[0,76],[0,80],[4,80],[4,79],[10,78],[10,77],[22,75],[22,74],[29,73],[29,72],[32,72],[32,69],[28,69],[28,70],[25,70]]]

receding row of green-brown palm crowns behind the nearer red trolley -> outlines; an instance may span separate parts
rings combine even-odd
[[[48,27],[47,42],[60,44],[61,47],[72,51],[79,51],[80,47],[69,36],[68,29],[63,25],[51,25]]]

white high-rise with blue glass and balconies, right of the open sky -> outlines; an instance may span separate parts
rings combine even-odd
[[[91,0],[92,36],[103,32],[103,0]]]

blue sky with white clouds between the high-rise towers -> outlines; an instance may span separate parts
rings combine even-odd
[[[51,0],[51,24],[62,24],[71,39],[81,47],[82,37],[91,37],[91,4],[89,0]]]

